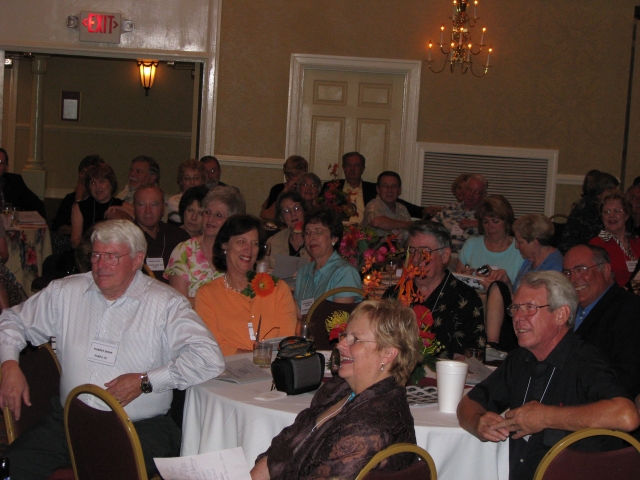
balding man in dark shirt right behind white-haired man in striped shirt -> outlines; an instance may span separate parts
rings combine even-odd
[[[186,230],[162,221],[164,215],[164,193],[156,184],[138,187],[133,194],[135,222],[144,232],[147,241],[147,255],[144,259],[156,279],[169,285],[164,278],[164,270],[169,263],[176,245],[189,240]]]

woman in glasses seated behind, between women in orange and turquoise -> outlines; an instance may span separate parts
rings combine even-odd
[[[280,222],[287,228],[267,240],[271,268],[276,266],[276,255],[311,259],[304,248],[302,234],[304,211],[303,200],[298,192],[283,192],[278,195],[276,214]]]

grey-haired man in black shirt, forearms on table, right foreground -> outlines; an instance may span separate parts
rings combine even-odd
[[[521,348],[458,405],[462,428],[482,441],[509,439],[509,478],[532,479],[546,452],[569,432],[630,432],[640,425],[609,363],[573,333],[577,305],[560,272],[525,275],[510,307]],[[609,446],[596,442],[589,449]]]

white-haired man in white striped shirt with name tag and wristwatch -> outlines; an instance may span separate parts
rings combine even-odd
[[[105,388],[129,414],[152,477],[153,457],[180,451],[180,430],[167,415],[172,389],[202,383],[225,368],[187,299],[140,272],[146,245],[135,224],[101,222],[91,241],[91,273],[56,280],[0,316],[0,406],[16,418],[30,408],[29,388],[38,386],[27,385],[18,365],[27,340],[40,345],[55,336],[62,370],[51,413],[4,453],[14,478],[48,478],[70,463],[62,405],[85,383]],[[104,409],[96,400],[86,403]]]

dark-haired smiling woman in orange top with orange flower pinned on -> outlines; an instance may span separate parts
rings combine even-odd
[[[200,287],[195,308],[224,355],[251,351],[260,322],[260,339],[295,333],[289,286],[253,270],[265,255],[264,245],[260,220],[252,215],[229,217],[216,236],[213,263],[224,275]]]

